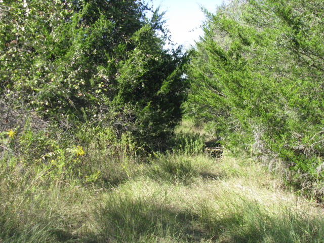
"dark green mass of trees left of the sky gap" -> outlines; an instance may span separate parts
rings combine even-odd
[[[2,1],[2,104],[69,133],[87,123],[165,148],[187,62],[181,49],[164,49],[168,41],[161,15],[141,1]]]

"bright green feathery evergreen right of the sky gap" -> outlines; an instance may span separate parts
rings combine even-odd
[[[321,181],[324,3],[232,1],[206,16],[187,114],[233,152],[300,172],[290,183]]]

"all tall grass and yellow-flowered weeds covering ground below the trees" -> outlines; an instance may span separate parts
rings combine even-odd
[[[320,205],[262,164],[195,152],[190,134],[149,155],[79,129],[74,142],[59,130],[57,140],[28,127],[2,134],[1,243],[323,242]]]

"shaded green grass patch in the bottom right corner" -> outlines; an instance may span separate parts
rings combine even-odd
[[[202,222],[216,242],[313,243],[324,242],[324,218],[288,208],[269,212],[256,201],[203,210]],[[221,212],[221,213],[220,213]],[[225,213],[226,212],[226,213]]]

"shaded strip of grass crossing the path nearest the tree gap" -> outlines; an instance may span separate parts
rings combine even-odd
[[[96,184],[99,187],[111,188],[129,181],[130,178],[144,175],[157,182],[169,181],[190,185],[199,178],[209,180],[224,176],[211,170],[213,160],[206,165],[196,160],[197,158],[188,155],[167,154],[152,159],[149,164],[123,164],[122,161],[110,163],[101,169],[102,176]]]

